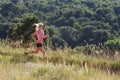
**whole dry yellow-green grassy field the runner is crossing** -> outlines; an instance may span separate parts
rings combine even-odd
[[[0,44],[0,80],[120,80],[120,56],[103,56],[94,50],[88,55],[78,48],[47,49],[42,54],[24,56],[22,47]],[[97,55],[96,55],[97,54]]]

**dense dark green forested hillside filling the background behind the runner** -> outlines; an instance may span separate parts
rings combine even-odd
[[[53,45],[120,46],[120,0],[0,0],[0,38],[28,41],[37,22]]]

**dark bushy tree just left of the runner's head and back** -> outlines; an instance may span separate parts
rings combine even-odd
[[[39,22],[39,19],[37,17],[26,14],[25,16],[23,16],[20,22],[21,24],[18,24],[16,26],[17,28],[9,30],[9,37],[13,40],[30,40],[30,35],[35,29],[34,27],[32,27],[32,25],[37,22]]]

